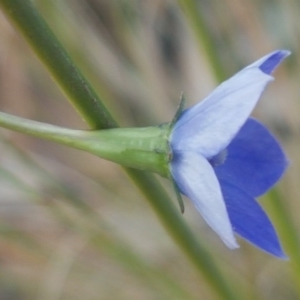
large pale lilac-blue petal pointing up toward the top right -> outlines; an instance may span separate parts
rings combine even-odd
[[[265,64],[274,69],[273,57],[274,54],[268,55],[259,64],[246,67],[202,102],[184,111],[172,131],[172,149],[194,150],[210,158],[226,148],[251,114],[266,85],[273,80],[260,69],[261,66],[271,69]]]

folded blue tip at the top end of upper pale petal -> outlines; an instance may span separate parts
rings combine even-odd
[[[287,50],[277,50],[274,51],[255,63],[251,64],[249,67],[258,67],[266,74],[271,74],[274,69],[281,63],[281,61],[290,55],[291,52]]]

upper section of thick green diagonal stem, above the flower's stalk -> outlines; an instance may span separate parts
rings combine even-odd
[[[116,127],[105,105],[76,67],[32,1],[3,0],[3,10],[22,32],[72,104],[92,128]]]

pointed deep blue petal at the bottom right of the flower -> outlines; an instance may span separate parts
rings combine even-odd
[[[234,231],[262,250],[287,258],[272,223],[257,201],[234,185],[220,183]]]

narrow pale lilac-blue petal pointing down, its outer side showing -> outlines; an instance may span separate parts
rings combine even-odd
[[[208,225],[229,248],[237,248],[233,230],[213,168],[193,152],[176,152],[171,173],[180,192],[189,197]]]

